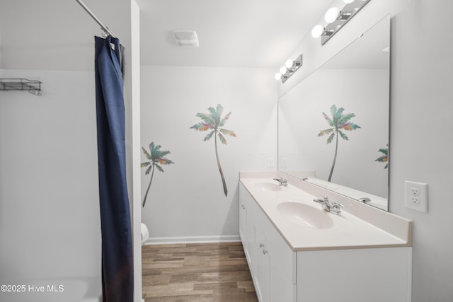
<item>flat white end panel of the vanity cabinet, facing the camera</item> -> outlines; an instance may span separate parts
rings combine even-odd
[[[411,248],[297,252],[299,302],[411,302]]]

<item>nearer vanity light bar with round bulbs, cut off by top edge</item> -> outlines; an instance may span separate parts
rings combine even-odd
[[[355,16],[370,0],[343,0],[346,4],[341,10],[337,7],[329,8],[324,15],[324,20],[328,23],[326,26],[316,25],[311,30],[311,36],[314,38],[321,37],[321,45],[335,35],[350,19]]]

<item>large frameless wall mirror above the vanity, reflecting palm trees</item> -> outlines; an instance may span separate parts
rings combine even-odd
[[[388,210],[389,44],[386,16],[280,98],[281,172]]]

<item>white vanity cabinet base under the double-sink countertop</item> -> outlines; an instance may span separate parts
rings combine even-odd
[[[410,246],[292,248],[263,210],[270,202],[239,183],[239,233],[260,302],[411,301]]]

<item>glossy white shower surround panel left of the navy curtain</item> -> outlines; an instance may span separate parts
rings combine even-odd
[[[85,276],[100,289],[94,73],[0,77],[42,81],[42,96],[0,92],[0,283]]]

